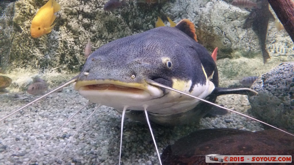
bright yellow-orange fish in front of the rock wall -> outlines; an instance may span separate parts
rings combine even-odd
[[[61,9],[61,6],[55,0],[49,0],[44,6],[42,6],[37,12],[36,16],[33,18],[31,24],[31,36],[38,38],[46,33],[50,33],[52,28],[51,24],[54,22],[57,11]]]

